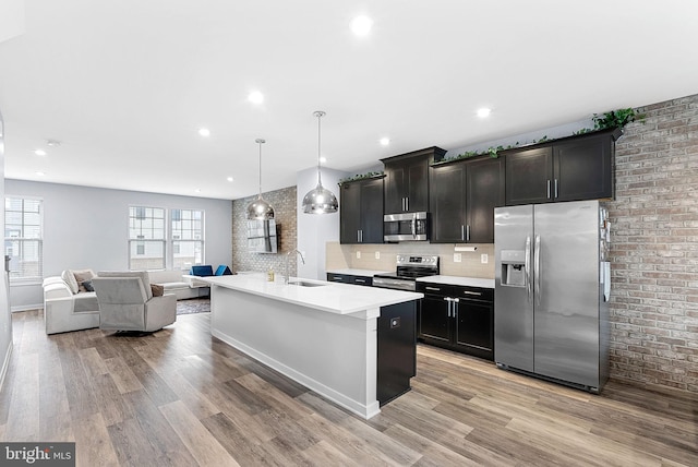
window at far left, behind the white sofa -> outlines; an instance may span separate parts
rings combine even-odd
[[[4,199],[4,254],[10,258],[11,280],[41,278],[41,200]]]

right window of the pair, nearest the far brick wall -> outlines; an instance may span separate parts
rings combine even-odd
[[[189,270],[204,262],[204,212],[171,209],[172,268]]]

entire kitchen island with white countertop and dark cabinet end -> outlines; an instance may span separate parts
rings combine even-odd
[[[396,380],[386,379],[389,367],[405,367],[406,351],[414,355],[416,300],[423,295],[265,278],[202,278],[212,286],[212,335],[365,419],[378,414],[378,393]],[[405,391],[413,375],[413,361],[407,363],[397,379],[407,379]]]

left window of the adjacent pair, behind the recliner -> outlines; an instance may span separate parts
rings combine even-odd
[[[165,209],[131,206],[129,208],[129,268],[165,268]]]

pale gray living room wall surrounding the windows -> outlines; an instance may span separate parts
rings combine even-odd
[[[5,180],[5,194],[44,200],[44,277],[63,270],[128,270],[132,205],[204,209],[205,263],[232,263],[231,201],[23,180]],[[13,311],[41,307],[40,284],[11,286],[10,301]]]

